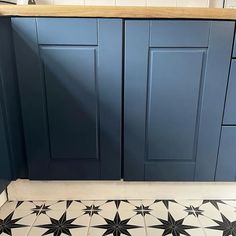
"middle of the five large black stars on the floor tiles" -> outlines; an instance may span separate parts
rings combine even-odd
[[[141,226],[138,225],[129,225],[128,223],[130,219],[121,220],[118,212],[116,213],[114,220],[106,218],[104,218],[104,220],[106,221],[106,224],[93,226],[95,228],[106,230],[102,236],[106,235],[120,236],[121,234],[131,236],[128,230],[141,228]]]

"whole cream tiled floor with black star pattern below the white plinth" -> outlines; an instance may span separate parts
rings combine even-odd
[[[236,236],[236,200],[8,202],[0,235]]]

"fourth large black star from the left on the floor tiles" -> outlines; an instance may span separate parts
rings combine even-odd
[[[184,219],[176,221],[169,212],[168,212],[168,220],[163,220],[159,218],[158,220],[161,221],[162,225],[153,225],[149,227],[156,229],[164,229],[162,236],[169,234],[173,236],[180,236],[180,235],[191,236],[186,230],[198,228],[196,226],[184,225],[183,224]]]

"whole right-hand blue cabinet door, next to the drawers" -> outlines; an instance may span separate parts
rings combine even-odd
[[[214,180],[234,23],[127,20],[124,177]]]

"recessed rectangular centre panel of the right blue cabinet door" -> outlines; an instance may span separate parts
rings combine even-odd
[[[148,160],[194,160],[204,50],[151,49]]]

